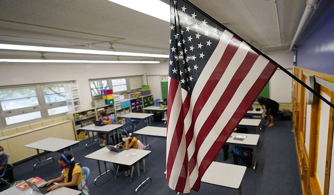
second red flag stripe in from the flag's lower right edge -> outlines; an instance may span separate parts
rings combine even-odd
[[[249,70],[251,70],[251,68],[253,67],[258,57],[259,57],[259,54],[255,53],[253,50],[248,51],[241,65],[239,66],[238,70],[233,75],[231,82],[229,82],[225,91],[223,92],[220,99],[218,100],[216,106],[211,111],[210,115],[207,117],[203,126],[199,130],[199,133],[196,139],[195,151],[194,151],[194,154],[191,160],[189,161],[190,174],[193,172],[195,168],[197,153],[198,153],[199,148],[201,147],[208,133],[211,131],[211,129],[216,124],[217,120],[219,119],[223,111],[225,110],[228,103],[231,101],[233,95],[237,91],[242,81],[247,76]]]

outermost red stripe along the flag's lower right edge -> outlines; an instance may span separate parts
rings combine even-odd
[[[269,62],[260,74],[259,78],[253,84],[251,89],[249,89],[243,101],[238,106],[238,109],[233,114],[232,118],[229,120],[226,126],[223,128],[216,141],[211,146],[209,150],[210,152],[207,152],[205,157],[203,158],[202,163],[199,166],[198,178],[195,184],[192,186],[192,189],[194,189],[195,191],[199,190],[200,181],[203,177],[204,172],[216,158],[218,152],[221,150],[222,146],[233,132],[232,130],[235,129],[239,122],[242,120],[242,117],[246,114],[249,105],[253,104],[256,98],[259,96],[261,92],[261,90],[259,89],[264,88],[270,77],[272,77],[272,75],[275,73],[276,69],[277,67],[272,62]]]

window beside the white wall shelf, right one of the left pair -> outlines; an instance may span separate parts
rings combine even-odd
[[[69,111],[64,84],[44,85],[42,89],[49,116]]]

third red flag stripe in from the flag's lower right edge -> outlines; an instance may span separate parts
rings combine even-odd
[[[205,105],[208,97],[210,97],[211,93],[215,89],[217,83],[219,82],[221,76],[224,74],[229,62],[231,62],[233,56],[237,52],[241,42],[236,38],[232,37],[231,41],[229,41],[229,44],[227,45],[223,55],[220,58],[220,61],[218,65],[216,66],[215,70],[207,80],[204,88],[202,89],[200,95],[198,96],[198,99],[195,103],[195,107],[193,108],[193,114],[192,114],[192,123],[189,127],[189,130],[187,131],[185,135],[186,140],[186,147],[189,146],[191,143],[193,136],[194,136],[194,125],[197,120],[198,114],[201,112],[203,106]],[[211,66],[211,65],[209,65]]]

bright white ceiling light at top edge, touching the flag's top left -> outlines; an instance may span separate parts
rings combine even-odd
[[[171,8],[159,0],[108,0],[121,6],[171,22]]]

